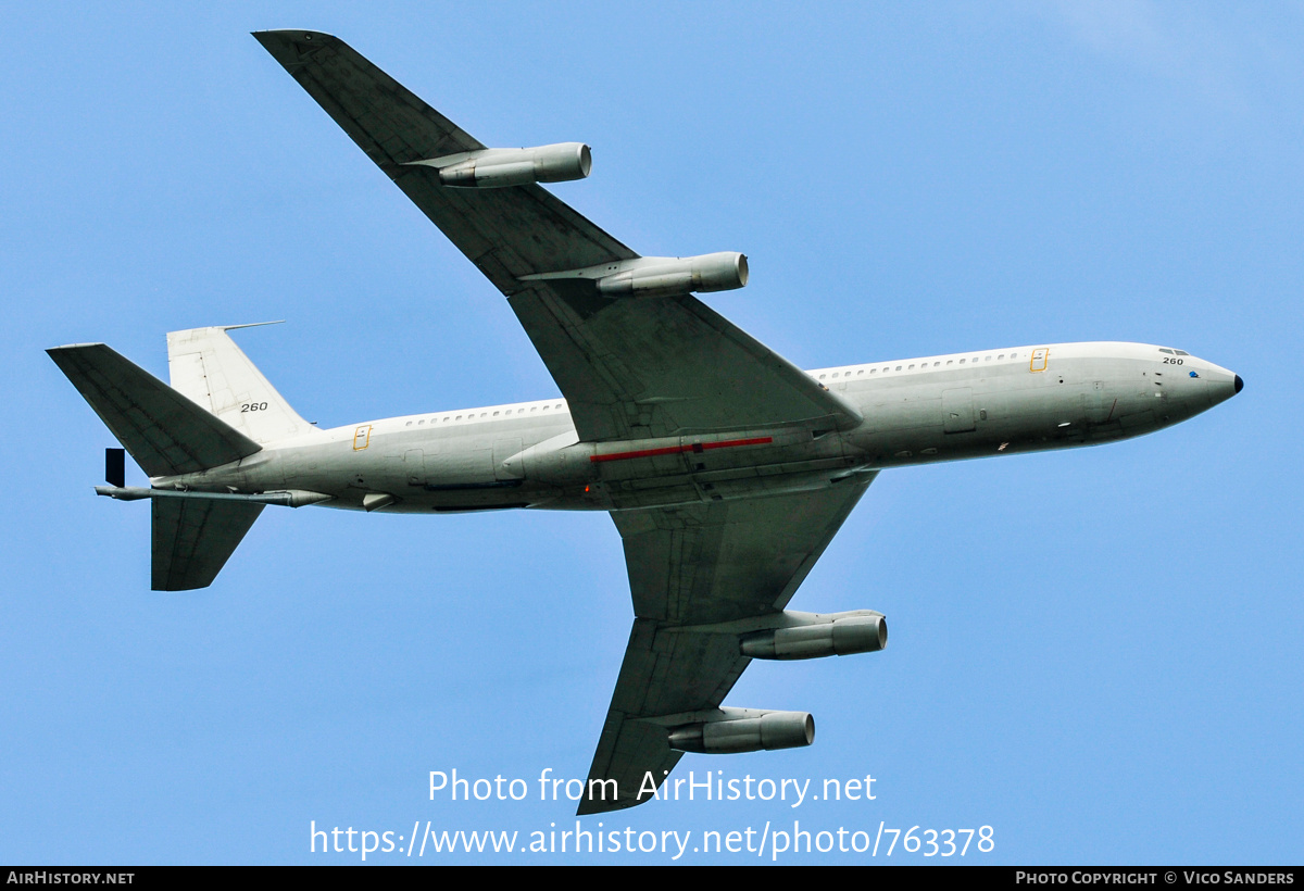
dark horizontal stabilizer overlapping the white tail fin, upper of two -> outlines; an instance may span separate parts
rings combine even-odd
[[[150,476],[196,474],[262,449],[103,343],[46,352]]]

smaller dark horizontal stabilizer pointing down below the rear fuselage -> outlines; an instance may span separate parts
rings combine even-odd
[[[190,591],[213,584],[263,505],[201,498],[154,498],[151,584]]]

